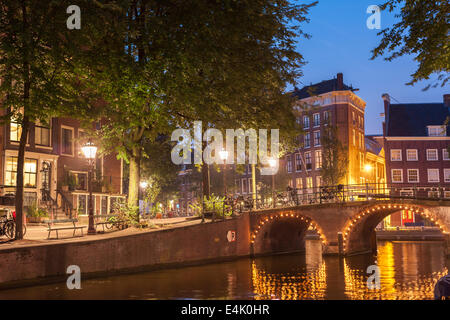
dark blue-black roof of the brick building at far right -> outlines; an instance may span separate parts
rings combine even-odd
[[[449,116],[450,110],[443,103],[391,104],[386,114],[386,136],[426,137],[427,126],[441,126]]]

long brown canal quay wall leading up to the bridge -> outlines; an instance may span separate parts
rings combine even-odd
[[[0,289],[66,281],[71,265],[83,279],[247,257],[249,230],[248,215],[242,215],[107,239],[2,248]]]

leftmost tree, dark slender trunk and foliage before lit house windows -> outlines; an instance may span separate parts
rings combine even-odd
[[[2,122],[20,126],[16,177],[16,239],[21,239],[25,146],[30,123],[63,112],[72,45],[66,28],[69,1],[0,1],[0,101]],[[51,23],[49,23],[51,21]]]

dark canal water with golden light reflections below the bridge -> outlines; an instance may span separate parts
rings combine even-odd
[[[319,241],[306,254],[278,255],[197,267],[0,291],[0,299],[433,299],[450,259],[441,242],[387,241],[378,254],[322,257]],[[379,290],[367,288],[370,265]]]

